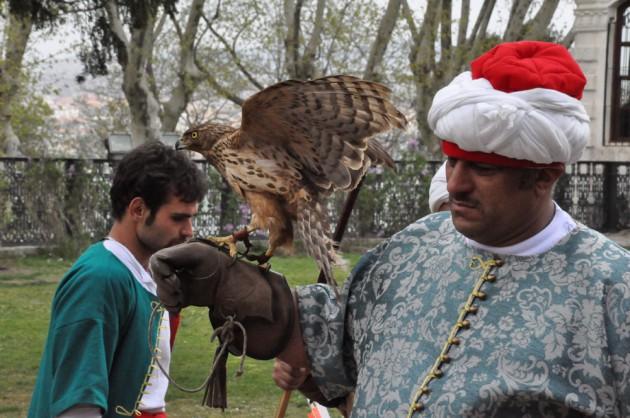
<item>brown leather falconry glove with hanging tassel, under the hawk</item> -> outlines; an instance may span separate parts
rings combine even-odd
[[[207,306],[219,339],[234,355],[267,360],[286,346],[295,318],[294,299],[284,276],[244,261],[234,261],[205,241],[165,248],[149,261],[158,297],[171,311]],[[243,334],[240,323],[245,330]],[[225,327],[224,327],[225,328]],[[246,338],[245,338],[246,337]],[[217,351],[218,354],[218,351]],[[225,365],[227,353],[219,360]],[[216,371],[210,406],[225,407],[225,369]],[[215,385],[217,383],[215,382]],[[216,393],[219,393],[217,397]]]

